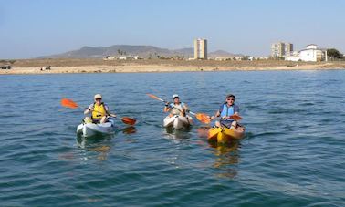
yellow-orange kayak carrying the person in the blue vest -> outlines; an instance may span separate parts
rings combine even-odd
[[[229,140],[238,140],[245,135],[245,128],[238,127],[236,129],[228,128],[211,128],[208,131],[208,140],[217,141],[218,143],[226,143]]]

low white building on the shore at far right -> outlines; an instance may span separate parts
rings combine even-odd
[[[292,56],[285,57],[285,60],[306,62],[327,61],[327,49],[321,49],[315,44],[310,44],[306,49],[302,49]]]

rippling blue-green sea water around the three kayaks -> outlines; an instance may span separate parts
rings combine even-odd
[[[77,138],[60,99],[96,93],[139,123]],[[208,114],[233,93],[246,137],[169,133],[146,93]],[[345,70],[0,76],[0,99],[0,206],[345,205]]]

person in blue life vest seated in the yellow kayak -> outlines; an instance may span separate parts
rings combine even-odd
[[[235,105],[235,96],[228,94],[225,98],[225,103],[220,106],[219,110],[215,112],[215,115],[211,119],[220,117],[220,121],[215,121],[216,127],[225,126],[229,129],[235,129],[237,128],[237,121],[230,118],[232,115],[239,116],[239,107]]]

